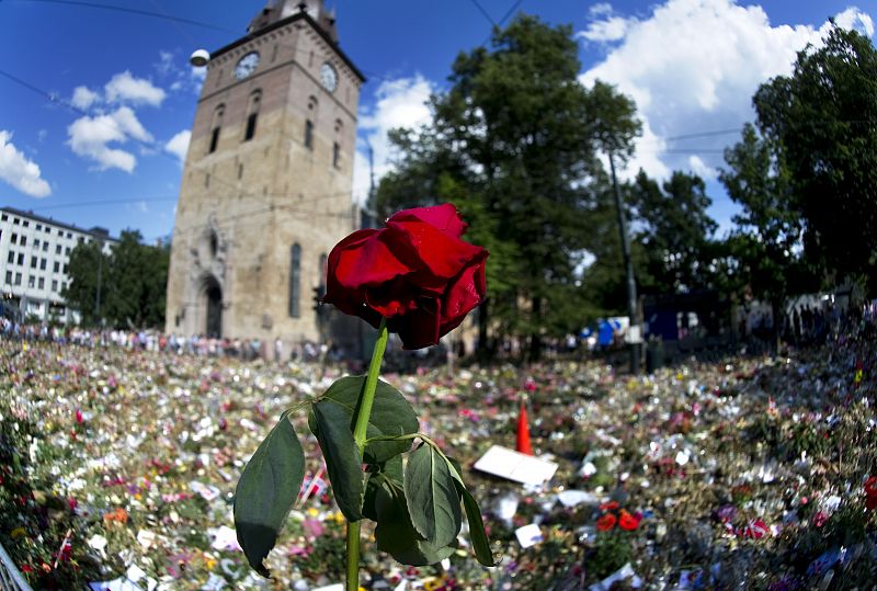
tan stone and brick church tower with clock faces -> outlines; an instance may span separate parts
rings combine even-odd
[[[321,340],[315,291],[357,221],[364,80],[323,0],[272,0],[248,35],[210,55],[176,206],[167,332]]]

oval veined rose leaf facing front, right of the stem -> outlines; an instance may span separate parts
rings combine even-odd
[[[457,538],[459,495],[449,464],[432,445],[421,445],[408,458],[405,493],[411,523],[428,542],[442,547]]]

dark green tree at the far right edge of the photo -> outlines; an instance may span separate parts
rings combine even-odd
[[[789,77],[753,99],[761,134],[775,144],[802,214],[811,260],[877,287],[877,52],[838,26],[798,54]]]

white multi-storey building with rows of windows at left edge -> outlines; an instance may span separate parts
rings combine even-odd
[[[68,285],[70,252],[100,240],[105,253],[117,242],[103,228],[89,230],[12,207],[0,207],[0,279],[3,314],[16,320],[78,322],[61,289]]]

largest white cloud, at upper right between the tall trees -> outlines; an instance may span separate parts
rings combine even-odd
[[[658,178],[672,169],[715,178],[722,163],[720,149],[739,135],[671,138],[752,121],[759,84],[790,73],[796,53],[808,43],[818,46],[830,26],[772,26],[761,7],[732,0],[667,0],[649,16],[623,19],[624,31],[616,38],[622,27],[614,19],[620,16],[611,7],[592,9],[591,16],[594,21],[579,35],[611,43],[605,58],[580,79],[586,86],[597,79],[615,84],[636,101],[643,137],[625,174],[642,167]],[[854,8],[840,13],[836,22],[874,31],[870,16]]]

